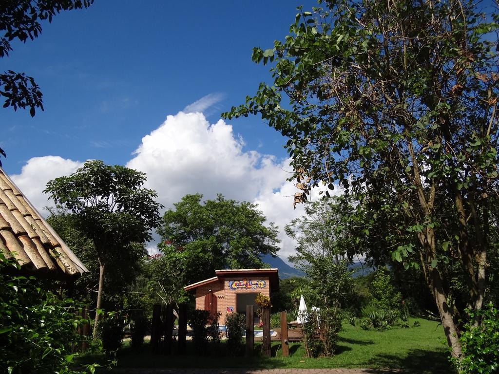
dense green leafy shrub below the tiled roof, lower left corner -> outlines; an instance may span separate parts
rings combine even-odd
[[[0,371],[1,373],[76,374],[98,365],[79,368],[74,350],[83,341],[77,329],[82,305],[59,299],[33,277],[14,276],[18,269],[0,252]],[[88,342],[100,350],[100,342]]]

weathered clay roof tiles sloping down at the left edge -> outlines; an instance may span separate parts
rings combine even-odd
[[[1,168],[0,250],[33,275],[74,276],[88,271]]]

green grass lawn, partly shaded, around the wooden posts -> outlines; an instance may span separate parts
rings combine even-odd
[[[280,343],[272,344],[272,357],[258,356],[260,344],[255,343],[256,356],[251,359],[232,357],[225,342],[212,347],[211,354],[200,360],[194,355],[194,347],[188,342],[185,356],[162,356],[148,352],[133,352],[124,347],[118,353],[120,368],[374,368],[403,369],[404,372],[450,373],[447,348],[442,326],[437,322],[417,319],[420,327],[394,327],[387,331],[364,331],[360,327],[344,325],[340,333],[338,350],[334,357],[307,359],[300,343],[291,343],[290,356],[281,356]]]

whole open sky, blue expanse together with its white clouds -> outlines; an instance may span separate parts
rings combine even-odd
[[[282,40],[300,3],[316,5],[95,0],[56,15],[0,60],[2,71],[36,79],[45,107],[34,118],[0,110],[4,170],[40,210],[46,182],[101,159],[147,173],[167,207],[185,193],[222,192],[257,203],[282,229],[302,212],[285,182],[286,140],[258,117],[226,123],[220,113],[270,82],[252,48]],[[285,258],[294,243],[280,237]]]

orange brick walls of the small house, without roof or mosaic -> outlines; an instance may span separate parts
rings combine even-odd
[[[236,289],[231,289],[231,282],[237,281],[244,285],[244,281],[252,281],[253,283],[257,281],[264,281],[265,285],[262,288],[247,289],[239,288],[236,285]],[[233,285],[234,286],[234,285]],[[265,296],[270,297],[270,284],[268,276],[252,276],[252,277],[241,277],[241,276],[227,276],[224,281],[214,282],[206,285],[199,286],[196,288],[196,309],[205,309],[205,296],[208,292],[212,290],[215,295],[217,295],[217,309],[222,314],[220,317],[220,324],[225,324],[225,317],[227,315],[227,310],[233,308],[236,312],[236,295],[239,293],[262,293]]]

